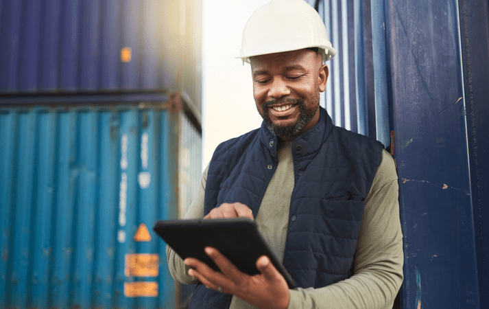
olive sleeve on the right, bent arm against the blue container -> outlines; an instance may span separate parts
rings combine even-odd
[[[290,290],[289,308],[392,308],[402,282],[397,174],[384,150],[366,198],[354,275],[324,288]]]

